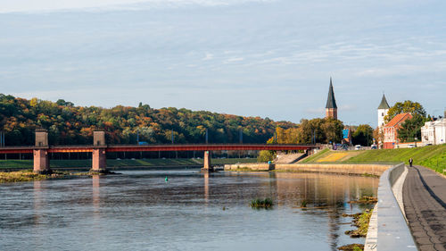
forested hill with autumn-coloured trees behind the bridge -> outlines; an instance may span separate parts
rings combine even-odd
[[[244,143],[265,143],[277,126],[297,127],[285,121],[260,117],[243,117],[187,109],[153,109],[149,105],[128,107],[118,105],[107,109],[82,107],[62,99],[57,102],[0,94],[0,130],[5,133],[6,146],[34,144],[34,130],[48,130],[50,145],[92,144],[93,130],[103,129],[109,144],[149,144],[171,142],[204,143],[206,129],[210,143],[237,143],[240,130]]]

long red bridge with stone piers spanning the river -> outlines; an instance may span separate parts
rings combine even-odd
[[[212,171],[210,151],[221,150],[272,150],[295,151],[303,150],[308,155],[318,146],[305,145],[268,145],[268,144],[184,144],[184,145],[107,145],[105,131],[93,132],[93,145],[85,146],[49,146],[48,132],[36,130],[35,146],[7,146],[0,147],[0,154],[33,154],[34,172],[51,173],[49,167],[49,153],[92,153],[92,172],[106,172],[106,153],[111,152],[166,152],[166,151],[203,151],[204,163],[202,170]]]

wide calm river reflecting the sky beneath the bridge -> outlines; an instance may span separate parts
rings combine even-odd
[[[121,173],[0,184],[0,250],[337,250],[364,243],[344,234],[342,214],[378,186],[319,173]],[[273,209],[252,209],[256,197]]]

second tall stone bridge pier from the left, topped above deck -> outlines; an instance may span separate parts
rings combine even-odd
[[[105,152],[105,131],[93,132],[93,153],[91,172],[107,172],[107,156]]]

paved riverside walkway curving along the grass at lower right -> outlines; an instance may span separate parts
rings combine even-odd
[[[419,250],[446,251],[446,179],[425,167],[409,167],[403,201]]]

